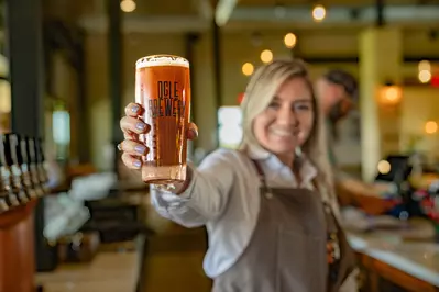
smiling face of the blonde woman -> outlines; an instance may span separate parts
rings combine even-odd
[[[305,144],[314,121],[310,86],[297,77],[285,81],[268,106],[253,120],[253,133],[262,147],[284,160]]]

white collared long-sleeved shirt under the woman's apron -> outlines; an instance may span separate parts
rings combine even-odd
[[[249,150],[261,165],[273,188],[312,189],[317,170],[309,162],[300,169],[301,183],[289,167],[264,150]],[[179,195],[151,188],[152,204],[164,217],[186,227],[206,225],[209,249],[204,268],[215,278],[229,269],[243,252],[256,225],[260,210],[260,179],[244,154],[219,149],[193,169],[193,179]]]

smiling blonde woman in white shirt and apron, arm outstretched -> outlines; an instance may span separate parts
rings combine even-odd
[[[141,111],[127,108],[125,137],[147,131],[138,124]],[[152,188],[153,205],[184,226],[207,226],[204,267],[216,292],[340,291],[353,252],[331,212],[322,117],[303,63],[262,66],[242,111],[240,150],[216,150],[189,167],[185,183]],[[120,148],[123,162],[140,168],[147,149],[127,139]]]

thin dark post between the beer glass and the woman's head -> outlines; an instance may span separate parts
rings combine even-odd
[[[217,25],[215,20],[212,21],[212,49],[213,49],[213,86],[215,86],[215,109],[218,109],[222,105],[222,76],[221,76],[221,31]],[[219,123],[218,123],[218,114],[215,114],[217,119],[217,128],[216,128],[216,148],[219,147]]]

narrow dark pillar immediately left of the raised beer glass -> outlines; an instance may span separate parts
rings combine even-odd
[[[114,146],[113,171],[118,173],[119,153],[117,145],[123,139],[119,121],[122,113],[122,33],[119,0],[107,0],[108,4],[108,64],[109,94],[111,97],[111,142]]]

